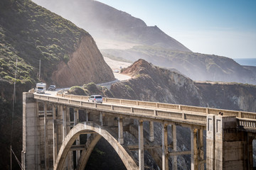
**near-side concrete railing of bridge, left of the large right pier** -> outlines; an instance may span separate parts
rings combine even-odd
[[[126,114],[132,114],[132,115],[149,115],[150,117],[159,117],[159,118],[165,118],[165,119],[175,119],[175,120],[183,120],[186,122],[193,122],[193,123],[198,123],[199,125],[206,125],[206,114],[198,115],[197,113],[187,113],[187,112],[182,112],[178,111],[175,112],[175,110],[167,110],[163,111],[161,108],[140,108],[141,106],[120,106],[120,105],[113,105],[110,104],[104,104],[104,103],[90,103],[87,102],[86,100],[81,100],[78,98],[73,98],[71,96],[65,96],[59,97],[59,96],[42,96],[38,94],[34,94],[34,98],[41,99],[43,101],[53,101],[56,103],[63,103],[63,104],[70,104],[73,106],[78,106],[78,107],[85,107],[85,108],[95,108],[97,110],[102,110],[102,111],[109,111],[109,112],[118,112],[118,113],[126,113]],[[112,98],[110,99],[112,100]],[[119,100],[119,99],[118,99]],[[113,98],[112,101],[117,101],[115,98]],[[124,100],[124,102],[126,102]],[[146,102],[146,105],[144,102],[143,106],[151,106],[153,102],[148,105]],[[158,103],[159,106],[161,106],[161,103]],[[155,104],[156,106],[156,104]],[[172,108],[173,109],[173,108]]]

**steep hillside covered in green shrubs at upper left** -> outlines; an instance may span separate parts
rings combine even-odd
[[[1,1],[0,10],[0,77],[14,81],[18,59],[18,82],[50,81],[58,62],[68,62],[82,34],[70,21],[37,6],[30,0]]]

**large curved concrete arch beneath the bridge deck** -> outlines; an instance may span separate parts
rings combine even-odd
[[[107,128],[102,127],[100,125],[97,125],[93,122],[83,122],[78,123],[78,125],[75,125],[74,128],[70,130],[68,135],[65,137],[65,140],[63,141],[63,145],[61,145],[60,150],[58,152],[57,159],[55,161],[54,169],[63,169],[63,164],[65,162],[65,157],[67,156],[68,152],[70,151],[70,147],[73,145],[73,142],[78,138],[79,135],[85,134],[87,132],[96,132],[101,137],[104,137],[107,142],[110,143],[110,145],[114,148],[114,150],[119,155],[120,159],[124,163],[124,166],[127,169],[139,169],[137,164],[134,162],[134,159],[128,154],[127,150],[124,149],[122,145],[119,144],[119,142],[114,138],[112,134],[110,134],[109,130]],[[90,153],[92,152],[93,147],[96,145],[97,141],[100,140],[100,137],[96,135],[94,144],[90,145],[90,149],[88,149],[85,157],[89,157]],[[85,152],[85,151],[84,151]],[[81,159],[87,159],[84,156],[81,157]],[[87,160],[86,160],[87,162]],[[85,163],[86,164],[86,163]],[[80,167],[85,166],[85,164],[81,165]]]

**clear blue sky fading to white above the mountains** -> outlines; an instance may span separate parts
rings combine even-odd
[[[99,0],[158,26],[193,52],[256,58],[256,0]]]

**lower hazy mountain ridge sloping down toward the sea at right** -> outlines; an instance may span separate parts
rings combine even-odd
[[[132,62],[144,59],[167,69],[177,69],[196,81],[225,81],[256,84],[256,67],[244,67],[228,57],[179,52],[163,47],[134,46],[127,50],[101,50],[104,56],[122,57]]]

